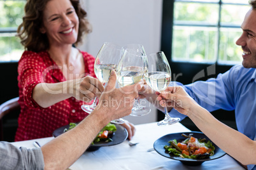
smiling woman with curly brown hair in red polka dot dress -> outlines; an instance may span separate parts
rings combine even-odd
[[[79,0],[28,0],[17,35],[25,47],[18,62],[21,107],[15,141],[52,136],[55,129],[82,121],[81,105],[100,96],[95,58],[75,48],[91,31]],[[90,103],[86,103],[89,102]],[[134,126],[123,126],[134,134]]]

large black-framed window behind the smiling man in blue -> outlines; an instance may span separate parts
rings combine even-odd
[[[173,8],[173,14],[167,16],[173,23],[169,28],[172,29],[171,60],[227,65],[241,63],[243,51],[236,45],[236,40],[241,36],[241,23],[250,8],[247,1],[164,0],[164,6],[165,3],[172,3],[167,6]],[[164,7],[163,15],[166,10]],[[163,20],[163,27],[165,24]]]

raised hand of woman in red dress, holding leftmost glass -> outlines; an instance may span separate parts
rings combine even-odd
[[[103,91],[104,86],[98,79],[86,76],[75,80],[75,93],[73,93],[73,96],[77,100],[88,102],[94,100],[95,96],[99,98]]]

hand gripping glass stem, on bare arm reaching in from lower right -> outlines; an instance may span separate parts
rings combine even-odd
[[[159,93],[157,100],[159,100],[159,104],[163,107],[173,107],[184,115],[188,115],[195,106],[198,106],[196,101],[180,86],[167,87],[165,91]]]

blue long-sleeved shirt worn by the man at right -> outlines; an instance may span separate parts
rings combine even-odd
[[[183,86],[180,82],[172,82],[170,86]],[[235,65],[216,79],[196,81],[183,86],[188,95],[206,108],[209,112],[218,110],[235,110],[238,131],[256,140],[256,70],[245,69]],[[173,117],[183,119],[185,115],[172,109]],[[248,166],[248,169],[254,165]]]

